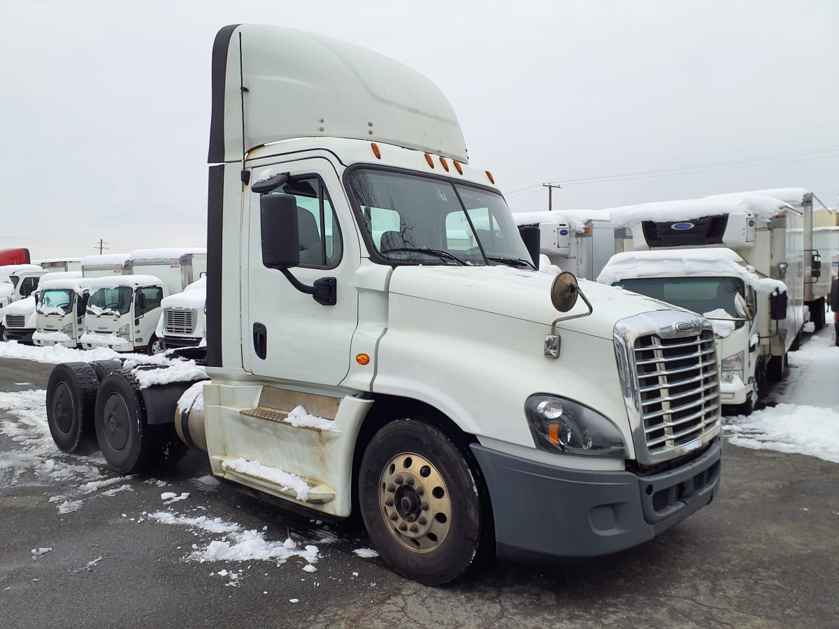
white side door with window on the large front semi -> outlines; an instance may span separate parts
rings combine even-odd
[[[253,169],[255,181],[265,166]],[[337,385],[346,377],[358,321],[355,273],[359,243],[347,197],[327,159],[271,164],[293,179],[275,193],[297,201],[300,266],[289,269],[311,286],[336,278],[335,305],[319,304],[262,261],[259,195],[248,193],[248,246],[242,255],[242,361],[258,376]]]

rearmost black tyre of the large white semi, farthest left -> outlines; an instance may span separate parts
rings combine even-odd
[[[94,416],[99,379],[86,362],[56,365],[47,382],[47,425],[64,452],[96,449]]]

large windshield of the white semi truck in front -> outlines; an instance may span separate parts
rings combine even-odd
[[[349,188],[367,243],[387,263],[533,266],[492,191],[372,169],[352,171]]]

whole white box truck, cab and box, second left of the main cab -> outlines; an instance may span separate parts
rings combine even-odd
[[[138,249],[128,255],[122,274],[91,284],[81,336],[85,349],[157,354],[163,346],[155,334],[162,301],[180,293],[206,273],[206,248]]]

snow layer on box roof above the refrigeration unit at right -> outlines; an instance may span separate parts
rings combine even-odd
[[[702,199],[680,199],[624,205],[610,208],[612,225],[615,227],[638,226],[643,221],[670,222],[691,221],[705,216],[741,214],[749,212],[756,219],[769,222],[773,216],[791,209],[784,201],[771,196],[753,193],[707,196]]]

